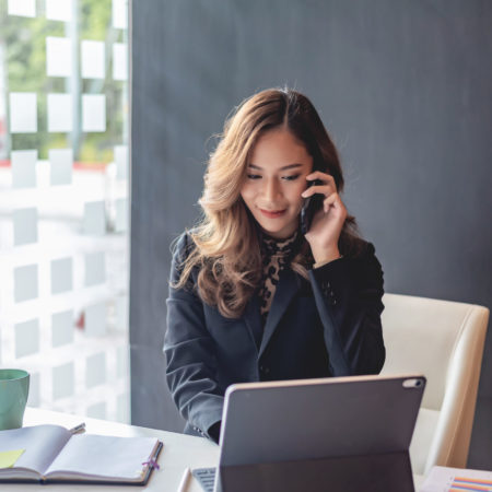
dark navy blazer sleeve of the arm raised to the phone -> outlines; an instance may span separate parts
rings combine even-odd
[[[333,376],[378,374],[385,362],[383,269],[374,246],[309,271]]]

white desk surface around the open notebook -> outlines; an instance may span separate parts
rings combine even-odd
[[[24,425],[56,424],[71,429],[81,422],[85,422],[86,432],[91,434],[106,434],[118,436],[152,436],[164,443],[159,455],[160,470],[154,470],[147,487],[129,485],[72,485],[52,484],[37,485],[26,483],[5,483],[1,485],[2,492],[30,492],[30,491],[56,491],[56,492],[138,492],[159,491],[176,492],[186,467],[214,467],[219,461],[219,446],[203,437],[177,434],[175,432],[156,431],[154,429],[126,425],[106,420],[81,418],[68,413],[52,412],[27,408],[24,415]],[[202,492],[200,484],[190,480],[187,492]]]

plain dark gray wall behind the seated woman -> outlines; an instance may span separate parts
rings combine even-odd
[[[492,2],[145,0],[132,7],[132,421],[183,429],[161,352],[169,244],[226,115],[307,94],[387,292],[492,305]],[[492,467],[492,338],[469,465]]]

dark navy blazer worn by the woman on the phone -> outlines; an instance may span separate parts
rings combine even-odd
[[[191,239],[180,236],[172,282]],[[311,270],[309,281],[281,271],[265,329],[254,295],[230,319],[190,289],[169,289],[164,352],[167,384],[185,432],[210,437],[233,383],[377,374],[385,361],[380,326],[383,271],[374,246]]]

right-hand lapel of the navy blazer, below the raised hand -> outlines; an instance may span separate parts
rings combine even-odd
[[[280,272],[279,283],[273,295],[270,312],[268,313],[267,323],[265,325],[263,338],[261,339],[261,345],[259,349],[258,359],[263,353],[271,336],[273,335],[277,325],[280,323],[285,309],[291,303],[292,298],[296,294],[301,286],[301,280],[296,273],[288,268]]]

